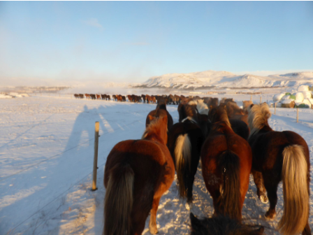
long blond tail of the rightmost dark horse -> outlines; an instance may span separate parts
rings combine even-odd
[[[307,161],[300,145],[289,145],[282,152],[284,213],[278,229],[282,234],[299,234],[309,217]]]

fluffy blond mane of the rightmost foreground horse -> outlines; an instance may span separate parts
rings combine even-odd
[[[268,126],[268,118],[271,116],[268,104],[254,104],[254,106],[248,107],[248,113],[250,136],[258,133],[263,127]]]

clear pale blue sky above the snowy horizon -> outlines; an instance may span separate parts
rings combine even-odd
[[[0,81],[313,69],[313,2],[0,2]]]

